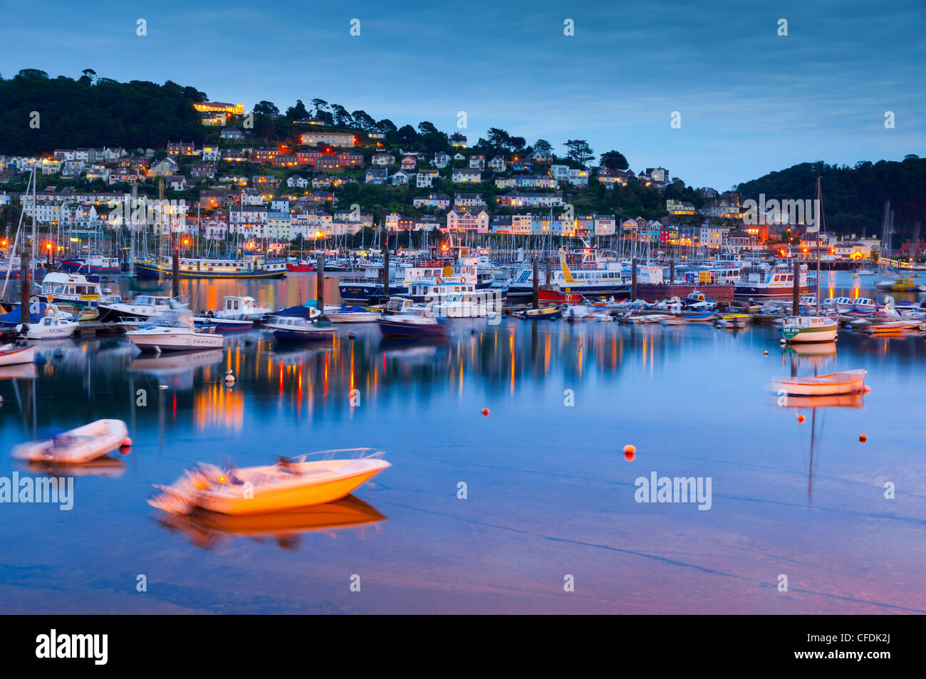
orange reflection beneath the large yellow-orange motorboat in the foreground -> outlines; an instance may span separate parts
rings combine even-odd
[[[299,547],[303,534],[331,533],[346,528],[363,528],[387,521],[380,511],[358,497],[347,496],[337,502],[305,509],[268,514],[231,516],[197,510],[191,514],[165,514],[157,522],[169,531],[186,534],[204,549],[216,547],[232,536],[249,537],[257,542],[276,540],[283,549]]]

